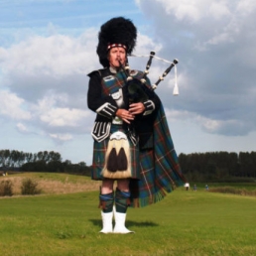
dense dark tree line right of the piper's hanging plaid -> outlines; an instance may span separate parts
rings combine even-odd
[[[256,178],[256,152],[180,154],[184,175],[196,182],[246,182]]]

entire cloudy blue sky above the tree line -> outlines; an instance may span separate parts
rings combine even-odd
[[[178,154],[256,151],[254,0],[0,0],[0,149],[57,151],[91,164],[87,108],[99,27],[130,18],[134,54],[179,59],[157,93]],[[144,69],[147,59],[130,58]],[[154,60],[155,82],[167,68]]]

